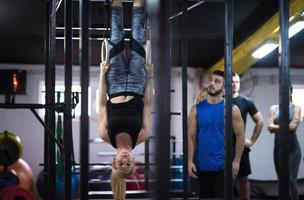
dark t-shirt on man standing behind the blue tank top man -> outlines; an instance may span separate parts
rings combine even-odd
[[[246,126],[247,113],[253,116],[258,112],[253,101],[248,97],[244,97],[242,95],[239,95],[237,98],[234,98],[233,104],[240,109],[245,126]]]

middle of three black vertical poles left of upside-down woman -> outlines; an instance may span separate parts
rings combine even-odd
[[[72,0],[64,1],[64,25],[65,25],[65,40],[64,40],[64,64],[65,64],[65,90],[64,90],[64,199],[72,199],[71,190],[71,146],[72,146],[72,107],[71,107],[71,96],[72,96],[72,26],[73,26],[73,7]]]

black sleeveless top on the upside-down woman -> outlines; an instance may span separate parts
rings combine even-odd
[[[116,135],[122,132],[130,135],[132,146],[135,147],[142,128],[143,107],[140,95],[123,103],[108,101],[108,134],[114,148],[116,148]]]

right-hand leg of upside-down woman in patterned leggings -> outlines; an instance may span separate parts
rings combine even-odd
[[[144,0],[134,0],[132,13],[132,40],[128,67],[128,91],[144,94],[145,71],[145,11]]]

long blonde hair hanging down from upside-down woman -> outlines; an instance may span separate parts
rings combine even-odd
[[[113,192],[114,200],[124,200],[126,197],[126,178],[129,176],[134,176],[136,171],[135,162],[132,165],[129,172],[123,172],[117,169],[115,164],[115,158],[112,162],[112,175],[111,175],[111,187]]]

